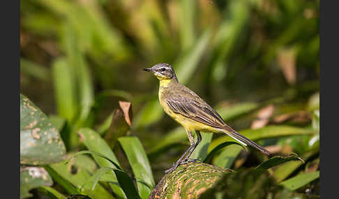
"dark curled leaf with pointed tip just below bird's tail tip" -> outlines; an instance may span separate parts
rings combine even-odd
[[[266,170],[274,166],[283,164],[287,161],[302,161],[303,164],[305,164],[305,161],[303,161],[303,159],[301,159],[297,154],[292,153],[287,156],[271,157],[269,160],[266,160],[262,164],[259,164],[259,166],[255,168],[255,170]]]

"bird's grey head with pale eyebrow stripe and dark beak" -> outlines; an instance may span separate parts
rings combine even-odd
[[[153,67],[144,68],[144,71],[153,72],[153,74],[160,80],[163,79],[176,79],[176,75],[172,65],[168,63],[158,63],[153,65]]]

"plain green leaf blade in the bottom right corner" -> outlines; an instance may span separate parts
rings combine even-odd
[[[294,191],[318,178],[319,170],[312,173],[303,173],[296,175],[296,177],[289,178],[288,180],[280,182],[280,184],[285,186],[287,189]]]

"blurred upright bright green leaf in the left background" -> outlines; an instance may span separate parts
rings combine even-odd
[[[52,63],[52,76],[57,113],[62,118],[66,118],[68,122],[73,122],[77,113],[77,94],[75,77],[66,58],[58,58]]]

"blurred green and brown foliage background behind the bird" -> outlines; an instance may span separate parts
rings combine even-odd
[[[20,3],[20,93],[65,122],[68,151],[82,148],[80,127],[96,129],[110,143],[113,130],[105,127],[119,101],[131,102],[132,127],[121,134],[140,138],[158,182],[188,147],[183,128],[158,103],[158,80],[142,71],[163,62],[234,129],[317,128],[319,1]],[[319,134],[259,143],[276,154],[305,154],[315,140]],[[238,166],[257,165],[253,159]]]

